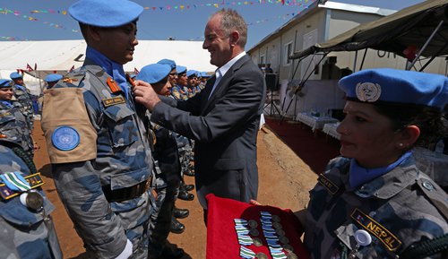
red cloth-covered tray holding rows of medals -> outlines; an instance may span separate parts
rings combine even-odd
[[[207,259],[310,258],[290,210],[207,195]]]

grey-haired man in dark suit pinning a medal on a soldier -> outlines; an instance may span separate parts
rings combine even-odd
[[[203,91],[179,101],[159,98],[148,84],[137,82],[134,94],[151,111],[151,121],[196,141],[197,195],[207,210],[206,194],[242,202],[256,199],[256,137],[266,86],[246,55],[246,22],[236,11],[214,13],[204,37],[202,47],[219,68]]]

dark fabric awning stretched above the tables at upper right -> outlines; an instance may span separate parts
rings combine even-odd
[[[366,47],[404,56],[403,51],[410,46],[424,48],[422,56],[448,55],[447,22],[448,0],[427,0],[376,21],[360,24],[333,39],[297,51],[289,58]],[[430,37],[432,40],[426,43]]]

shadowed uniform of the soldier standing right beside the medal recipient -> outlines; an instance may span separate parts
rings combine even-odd
[[[171,217],[180,186],[180,161],[174,134],[160,125],[154,125],[157,142],[154,145],[156,160],[156,206],[150,220],[150,258],[158,258],[167,242]]]

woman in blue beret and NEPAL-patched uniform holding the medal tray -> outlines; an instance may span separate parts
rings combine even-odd
[[[319,177],[301,220],[312,258],[447,258],[430,243],[446,241],[448,195],[418,170],[411,149],[446,130],[448,79],[372,69],[340,88],[342,157]]]

